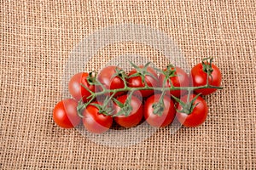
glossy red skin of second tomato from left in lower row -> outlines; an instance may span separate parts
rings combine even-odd
[[[97,102],[94,102],[99,104]],[[83,124],[90,133],[104,133],[112,126],[113,118],[111,116],[99,113],[95,105],[88,105],[83,111]]]

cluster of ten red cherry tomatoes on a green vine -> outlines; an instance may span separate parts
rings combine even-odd
[[[134,65],[128,74],[107,66],[99,74],[81,72],[68,84],[73,99],[63,99],[53,111],[60,127],[81,122],[91,133],[104,133],[113,126],[136,127],[145,120],[153,127],[167,127],[175,116],[185,127],[197,127],[207,119],[207,102],[201,95],[220,89],[221,73],[212,59],[203,59],[188,75],[168,65],[154,69]]]

